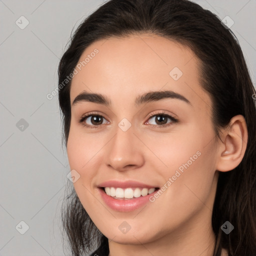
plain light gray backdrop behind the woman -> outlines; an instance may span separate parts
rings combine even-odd
[[[57,86],[58,61],[72,28],[103,2],[0,0],[0,255],[64,254],[60,206],[69,165],[57,96],[48,100],[46,94]],[[256,1],[195,2],[234,21],[231,30],[255,84]],[[29,21],[23,29],[21,15]]]

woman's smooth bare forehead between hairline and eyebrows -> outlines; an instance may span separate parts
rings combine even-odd
[[[154,34],[109,37],[93,42],[80,56],[70,99],[86,90],[121,102],[160,89],[186,94],[191,101],[207,98],[198,68],[194,52],[173,40]]]

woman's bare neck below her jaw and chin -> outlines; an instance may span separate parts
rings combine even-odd
[[[209,211],[203,207],[203,211]],[[211,212],[208,213],[211,215]],[[203,218],[201,218],[204,216]],[[134,236],[134,244],[121,244],[114,240],[108,240],[109,256],[152,256],[152,255],[175,255],[175,256],[209,256],[213,255],[215,235],[211,227],[211,218],[205,221],[205,212],[194,216],[189,223],[183,223],[182,227],[147,243],[140,243]]]

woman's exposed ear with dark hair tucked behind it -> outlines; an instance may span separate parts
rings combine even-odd
[[[234,169],[244,156],[247,139],[248,131],[244,117],[241,114],[233,116],[227,128],[222,130],[216,169],[219,171]]]

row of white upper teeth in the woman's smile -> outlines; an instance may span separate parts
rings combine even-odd
[[[105,187],[105,192],[107,195],[110,195],[114,198],[124,198],[124,199],[130,199],[133,197],[139,197],[139,196],[145,196],[147,194],[150,194],[152,192],[154,192],[155,188],[131,188],[131,187],[127,187],[125,189],[117,187]]]

